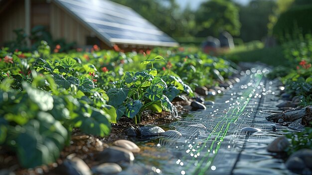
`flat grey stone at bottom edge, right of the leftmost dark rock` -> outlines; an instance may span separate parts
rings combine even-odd
[[[92,172],[94,174],[100,174],[100,175],[112,175],[122,172],[122,168],[115,163],[104,163],[100,164],[98,166],[93,167]]]

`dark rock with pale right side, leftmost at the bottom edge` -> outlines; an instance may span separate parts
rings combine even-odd
[[[71,155],[55,169],[55,172],[59,175],[92,175],[90,168],[83,160]]]

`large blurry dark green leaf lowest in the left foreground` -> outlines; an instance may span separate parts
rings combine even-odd
[[[38,113],[38,120],[23,126],[16,139],[17,157],[25,168],[55,162],[67,141],[67,130],[48,113]],[[44,133],[44,134],[43,134]]]

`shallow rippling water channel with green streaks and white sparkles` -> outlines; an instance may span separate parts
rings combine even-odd
[[[283,160],[266,151],[276,137],[296,131],[265,120],[278,111],[275,106],[279,99],[277,83],[267,80],[265,73],[266,68],[241,72],[241,81],[217,96],[214,105],[160,126],[175,129],[181,137],[169,135],[136,142],[142,151],[132,167],[147,167],[153,170],[150,174],[162,175],[290,174]],[[260,131],[250,132],[245,127]]]

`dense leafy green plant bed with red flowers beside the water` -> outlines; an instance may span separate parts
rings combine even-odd
[[[177,117],[171,103],[177,95],[193,96],[192,88],[237,71],[225,59],[182,49],[145,54],[94,46],[93,52],[51,54],[44,41],[34,52],[2,48],[0,145],[15,151],[23,167],[48,164],[73,128],[103,137],[122,116],[139,123],[146,109]]]

